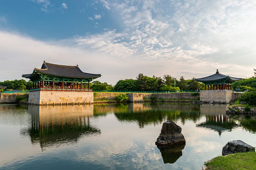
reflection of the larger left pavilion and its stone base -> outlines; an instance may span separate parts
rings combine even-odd
[[[29,128],[22,135],[29,135],[32,144],[51,147],[77,142],[81,137],[99,135],[101,131],[90,124],[93,105],[29,106]]]

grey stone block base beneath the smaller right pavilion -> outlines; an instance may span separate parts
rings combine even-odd
[[[200,100],[209,102],[229,103],[232,99],[232,91],[201,91]]]

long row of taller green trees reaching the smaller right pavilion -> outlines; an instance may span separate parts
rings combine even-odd
[[[175,87],[176,86],[176,87]],[[180,91],[203,89],[204,84],[195,79],[185,80],[183,76],[176,79],[171,75],[161,77],[149,77],[140,73],[136,79],[119,80],[114,86],[114,90],[126,91]]]

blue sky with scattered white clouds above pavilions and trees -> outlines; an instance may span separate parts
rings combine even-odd
[[[43,61],[118,80],[256,68],[255,0],[1,0],[0,81]],[[28,79],[26,79],[28,81]]]

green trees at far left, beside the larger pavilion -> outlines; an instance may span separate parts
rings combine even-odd
[[[5,90],[15,89],[15,90],[30,90],[33,87],[32,81],[21,80],[6,80],[0,82],[0,85],[7,86]]]

